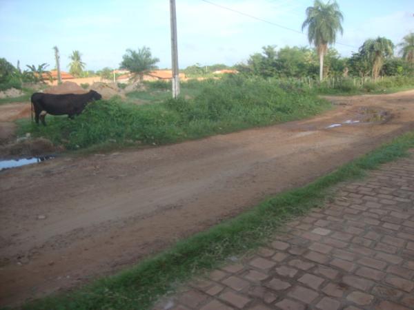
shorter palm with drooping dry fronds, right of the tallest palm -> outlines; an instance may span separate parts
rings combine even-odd
[[[377,39],[366,40],[359,51],[371,62],[373,79],[375,80],[380,75],[384,58],[393,55],[394,44],[389,39],[377,37]]]

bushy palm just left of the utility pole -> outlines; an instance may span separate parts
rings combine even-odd
[[[135,75],[135,78],[139,76],[139,81],[142,81],[146,72],[157,69],[155,65],[157,62],[159,62],[159,59],[152,58],[151,50],[146,46],[139,48],[137,51],[128,48],[126,54],[122,56],[119,68],[129,70]]]

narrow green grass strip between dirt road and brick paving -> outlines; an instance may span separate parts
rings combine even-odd
[[[150,309],[158,296],[177,283],[218,267],[229,256],[263,245],[289,218],[322,206],[333,185],[407,156],[407,150],[413,147],[414,132],[409,132],[305,187],[269,198],[233,220],[177,242],[167,251],[116,276],[102,278],[70,293],[31,302],[23,309]]]

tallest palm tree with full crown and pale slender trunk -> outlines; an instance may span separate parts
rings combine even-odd
[[[313,6],[306,8],[306,19],[302,24],[302,30],[308,27],[309,43],[317,48],[319,55],[319,79],[322,81],[324,77],[324,55],[328,50],[328,44],[336,41],[337,32],[344,32],[341,22],[344,20],[342,12],[336,1],[315,0]]]

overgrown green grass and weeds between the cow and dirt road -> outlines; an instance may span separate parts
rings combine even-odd
[[[137,141],[144,145],[161,145],[293,121],[331,107],[316,94],[285,90],[264,79],[228,76],[183,84],[183,96],[177,100],[166,99],[164,96],[169,97],[170,93],[160,91],[162,85],[158,85],[155,92],[164,98],[160,103],[134,105],[121,99],[95,101],[75,120],[47,116],[47,127],[21,121],[19,132],[31,132],[32,136],[48,138],[55,145],[71,150],[111,141],[119,145]],[[144,96],[141,92],[134,94]]]

